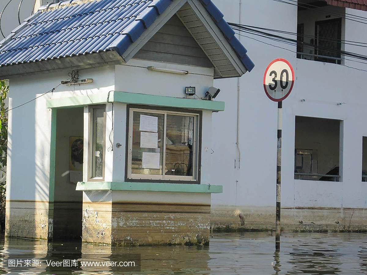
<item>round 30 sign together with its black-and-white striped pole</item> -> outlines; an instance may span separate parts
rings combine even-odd
[[[276,206],[275,206],[275,251],[280,251],[280,194],[281,194],[281,132],[283,100],[291,93],[294,84],[294,71],[283,58],[270,62],[264,74],[265,93],[278,103],[277,156],[276,156]]]

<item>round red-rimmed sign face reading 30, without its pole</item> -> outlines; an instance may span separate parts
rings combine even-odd
[[[264,74],[265,93],[273,101],[279,102],[287,98],[294,84],[294,71],[284,58],[270,62]]]

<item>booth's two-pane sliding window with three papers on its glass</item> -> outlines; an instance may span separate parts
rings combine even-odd
[[[129,110],[128,179],[196,181],[199,114]]]

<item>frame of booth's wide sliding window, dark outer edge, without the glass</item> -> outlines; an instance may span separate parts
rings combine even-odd
[[[201,125],[202,125],[202,111],[199,110],[183,110],[179,108],[169,107],[155,107],[155,106],[142,106],[142,105],[127,105],[126,108],[126,158],[125,158],[125,181],[126,182],[152,182],[152,183],[190,183],[200,184],[200,172],[201,172]],[[133,125],[133,112],[151,112],[164,114],[164,129],[163,136],[163,167],[162,175],[144,175],[144,174],[132,174],[131,173],[131,154],[132,154],[132,125]],[[165,172],[165,159],[166,159],[166,132],[167,132],[167,114],[169,115],[188,115],[196,117],[194,120],[194,133],[195,139],[193,141],[197,144],[196,150],[193,152],[193,176],[173,176],[164,175]],[[195,170],[195,171],[194,171]],[[196,176],[195,176],[196,175]]]

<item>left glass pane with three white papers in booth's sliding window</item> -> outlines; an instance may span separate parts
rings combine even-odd
[[[162,175],[164,114],[134,111],[131,173]]]

